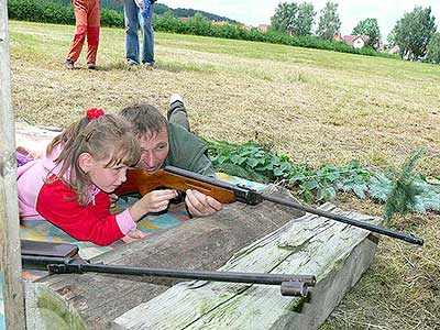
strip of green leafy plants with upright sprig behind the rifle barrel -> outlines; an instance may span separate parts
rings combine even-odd
[[[295,190],[306,202],[319,202],[351,193],[359,198],[373,198],[385,204],[385,218],[394,212],[440,210],[440,185],[427,183],[413,174],[422,156],[415,152],[400,173],[371,173],[353,160],[348,166],[293,164],[288,156],[278,155],[273,147],[254,142],[233,144],[206,141],[215,168],[229,175],[260,183],[275,183]]]

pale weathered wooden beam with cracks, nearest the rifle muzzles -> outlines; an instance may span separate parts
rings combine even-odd
[[[378,218],[331,210],[375,223]],[[118,329],[317,329],[369,267],[376,241],[369,232],[314,215],[243,249],[222,271],[315,274],[310,299],[279,287],[185,282],[114,320]]]

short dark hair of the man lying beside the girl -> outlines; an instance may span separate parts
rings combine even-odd
[[[151,105],[135,103],[121,110],[121,116],[132,125],[138,136],[152,136],[167,128],[167,121],[161,111]]]

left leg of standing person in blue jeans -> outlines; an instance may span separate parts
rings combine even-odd
[[[134,0],[124,0],[125,57],[130,65],[139,64],[139,12]]]

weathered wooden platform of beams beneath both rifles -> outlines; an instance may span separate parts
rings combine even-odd
[[[341,213],[331,205],[322,208]],[[174,285],[169,279],[150,277],[56,275],[26,284],[28,327],[317,329],[369,267],[376,243],[367,231],[272,202],[254,207],[234,204],[212,217],[187,221],[94,262],[315,274],[318,283],[307,299],[283,297],[276,286],[207,282]]]

